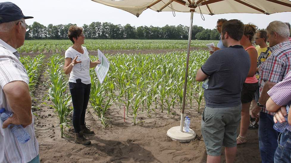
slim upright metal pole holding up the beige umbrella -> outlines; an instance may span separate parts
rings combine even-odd
[[[192,8],[191,8],[191,10],[192,10]],[[191,36],[192,36],[192,25],[193,25],[193,10],[191,11],[191,19],[190,19],[190,26],[189,26],[189,38],[188,38],[187,61],[186,61],[186,71],[185,71],[185,83],[184,83],[184,92],[183,92],[183,105],[182,105],[182,110],[181,110],[180,131],[183,131],[183,126],[184,126],[184,110],[185,110],[187,79],[188,79],[188,67],[189,67],[190,46],[191,46]]]

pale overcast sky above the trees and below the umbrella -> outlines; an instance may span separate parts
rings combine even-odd
[[[26,23],[31,25],[34,21],[40,24],[58,25],[58,24],[90,24],[92,22],[109,22],[113,24],[138,27],[146,26],[165,26],[165,25],[187,25],[190,24],[190,13],[176,12],[173,17],[172,12],[156,12],[151,9],[145,10],[140,17],[116,9],[113,7],[98,4],[91,0],[10,0],[22,9],[26,16],[33,16],[33,19],[27,19]],[[2,1],[3,2],[3,1]],[[273,20],[280,20],[291,23],[291,12],[265,14],[220,14],[204,15],[205,21],[201,19],[200,14],[194,14],[193,25],[203,28],[213,29],[216,21],[220,18],[239,19],[243,23],[254,23],[259,28],[266,28]]]

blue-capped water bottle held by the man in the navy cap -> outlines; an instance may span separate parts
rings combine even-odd
[[[4,122],[6,119],[12,116],[12,113],[5,111],[4,108],[0,110],[0,114],[1,114],[0,117],[1,117],[2,122]],[[22,125],[10,124],[8,128],[11,129],[11,132],[15,135],[15,137],[20,143],[24,144],[28,140],[30,140],[30,135],[26,132],[26,130],[22,127]]]

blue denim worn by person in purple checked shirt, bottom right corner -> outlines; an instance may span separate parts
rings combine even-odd
[[[278,147],[274,155],[274,163],[291,162],[291,132],[285,129],[278,137]]]

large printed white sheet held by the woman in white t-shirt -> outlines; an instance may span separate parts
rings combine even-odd
[[[95,72],[99,82],[102,84],[109,70],[109,61],[99,49],[98,58],[101,63],[95,67]]]

